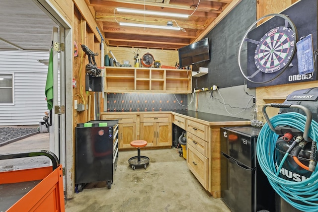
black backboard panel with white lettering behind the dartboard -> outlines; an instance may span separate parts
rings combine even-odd
[[[317,22],[317,0],[301,0],[298,3],[292,5],[291,7],[287,8],[286,10],[282,11],[281,14],[287,15],[292,22],[294,23],[297,32],[298,38],[303,36],[307,36],[312,34],[313,36],[313,46],[314,50],[317,49],[317,29],[318,29],[318,22]],[[251,30],[248,34],[248,38],[260,41],[263,36],[271,31],[271,29],[284,26],[284,19],[278,16],[273,16],[270,20],[264,22],[263,24],[259,25],[257,28]],[[269,37],[269,36],[268,36]],[[273,36],[272,36],[272,39]],[[294,48],[296,48],[296,42]],[[274,42],[274,41],[272,41]],[[267,45],[267,44],[263,44]],[[247,75],[252,75],[255,71],[257,71],[257,67],[255,66],[255,49],[256,44],[248,43],[247,45]],[[314,81],[317,80],[317,62],[315,64],[314,73],[308,75],[299,75],[298,74],[298,63],[297,63],[297,50],[294,58],[291,60],[291,64],[286,70],[278,76],[276,79],[263,83],[263,84],[256,84],[250,81],[247,82],[247,87],[261,87],[261,86],[269,86],[269,85],[278,85],[278,84],[288,84],[288,83],[295,83],[295,82],[303,82],[303,81]],[[279,72],[279,71],[277,71]],[[276,72],[276,73],[277,73]],[[253,81],[265,81],[266,79],[273,78],[271,74],[274,73],[264,73],[259,71],[253,77]]]

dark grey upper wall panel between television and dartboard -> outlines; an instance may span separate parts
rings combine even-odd
[[[207,34],[210,61],[193,65],[192,70],[199,71],[199,67],[208,67],[209,73],[193,77],[193,88],[210,88],[212,85],[224,88],[244,83],[238,66],[239,44],[245,31],[255,20],[256,1],[242,0]]]

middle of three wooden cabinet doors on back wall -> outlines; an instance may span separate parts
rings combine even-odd
[[[140,140],[148,142],[147,146],[156,146],[157,123],[140,123]]]

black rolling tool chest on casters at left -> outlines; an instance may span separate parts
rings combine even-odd
[[[118,161],[118,120],[90,121],[75,128],[75,183],[107,181],[110,189]]]

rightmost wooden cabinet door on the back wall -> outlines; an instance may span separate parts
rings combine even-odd
[[[157,146],[171,146],[171,122],[157,123]]]

